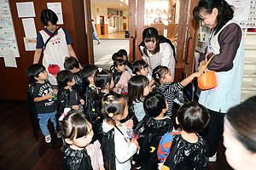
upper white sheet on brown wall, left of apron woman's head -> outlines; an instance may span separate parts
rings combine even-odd
[[[36,17],[33,2],[16,3],[18,17]]]

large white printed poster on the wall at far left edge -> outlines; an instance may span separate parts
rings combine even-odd
[[[20,57],[8,0],[0,0],[0,11],[0,57],[5,57],[6,50]]]

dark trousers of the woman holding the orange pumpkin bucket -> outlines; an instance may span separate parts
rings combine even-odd
[[[224,132],[225,113],[208,110],[210,113],[210,122],[200,135],[207,140],[209,146],[209,157],[214,156],[218,149],[219,140]]]

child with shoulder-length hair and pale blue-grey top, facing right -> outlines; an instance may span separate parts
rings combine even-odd
[[[129,117],[133,115],[137,117],[137,121],[141,122],[146,115],[143,108],[144,97],[149,94],[148,78],[143,75],[131,77],[128,83],[128,99],[129,99]],[[134,112],[134,113],[133,113]],[[136,124],[136,121],[135,121]]]

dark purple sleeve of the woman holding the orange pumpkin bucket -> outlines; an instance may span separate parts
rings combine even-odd
[[[212,71],[230,71],[233,67],[236,51],[241,43],[241,36],[241,28],[236,23],[226,26],[218,35],[220,54],[217,54],[212,58],[207,68]],[[211,57],[212,54],[209,54],[207,59],[210,59]]]

